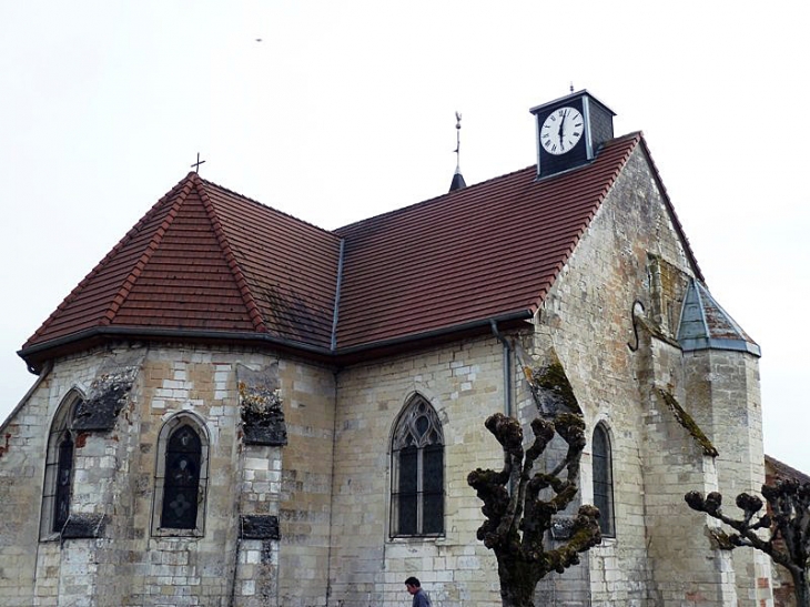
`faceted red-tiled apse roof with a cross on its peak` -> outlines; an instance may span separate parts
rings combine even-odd
[[[68,295],[22,352],[101,327],[266,333],[326,347],[338,250],[328,232],[190,173]]]

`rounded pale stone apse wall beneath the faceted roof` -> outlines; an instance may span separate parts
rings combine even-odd
[[[98,351],[59,361],[7,425],[14,441],[0,459],[3,489],[27,506],[12,512],[3,504],[0,605],[246,607],[277,604],[283,593],[314,604],[326,587],[333,374],[264,354],[141,348],[138,376],[114,427],[78,435],[71,520],[103,515],[103,527],[98,537],[62,534],[60,542],[57,534],[39,542],[32,512],[39,513],[42,500],[50,421],[71,390],[87,396],[100,370],[131,355]],[[288,451],[244,444],[239,365],[277,365]],[[155,524],[159,435],[179,413],[200,421],[207,444],[199,533],[165,533]],[[245,536],[241,515],[274,516],[280,530],[275,537]],[[279,535],[290,547],[284,565]],[[302,566],[313,571],[310,584],[301,584]]]

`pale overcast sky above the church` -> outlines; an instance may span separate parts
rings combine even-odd
[[[0,1],[0,418],[16,351],[190,170],[326,229],[535,162],[588,89],[642,130],[810,473],[807,2]],[[261,41],[260,41],[261,40]]]

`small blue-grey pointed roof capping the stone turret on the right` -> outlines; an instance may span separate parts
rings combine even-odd
[[[757,343],[720,307],[709,290],[690,281],[684,297],[678,343],[685,352],[733,350],[761,356]]]

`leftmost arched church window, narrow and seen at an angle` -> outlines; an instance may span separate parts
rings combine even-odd
[[[81,403],[81,397],[75,392],[71,392],[57,408],[48,434],[40,523],[40,537],[42,538],[61,533],[70,516],[75,451],[75,437],[71,425],[73,411],[79,403]]]

